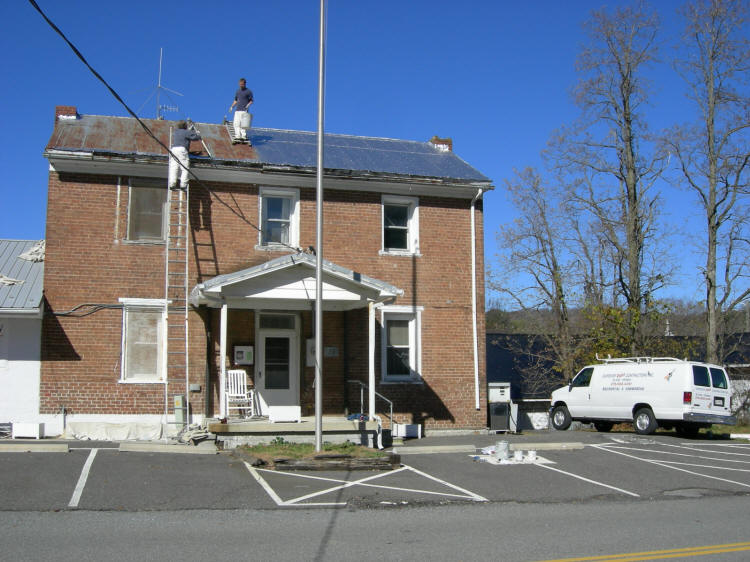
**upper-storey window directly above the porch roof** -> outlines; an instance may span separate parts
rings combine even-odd
[[[261,188],[260,246],[299,246],[299,191]]]

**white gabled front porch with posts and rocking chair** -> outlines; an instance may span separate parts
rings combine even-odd
[[[375,391],[375,307],[392,302],[403,291],[383,281],[330,262],[323,264],[324,354],[314,354],[315,258],[287,255],[241,271],[206,280],[191,293],[193,306],[213,309],[219,334],[219,419],[209,430],[227,441],[268,441],[289,436],[312,438],[314,367],[320,362],[323,384],[324,439],[374,444],[379,435]],[[232,419],[227,375],[244,371],[252,388],[251,419]],[[350,379],[360,390],[359,412],[367,422],[344,417]],[[341,412],[341,413],[339,413]],[[293,423],[285,423],[293,422]],[[364,425],[362,425],[364,423]],[[369,425],[368,425],[369,424]]]

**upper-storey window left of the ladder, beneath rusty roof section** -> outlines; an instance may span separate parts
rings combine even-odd
[[[128,240],[164,240],[167,189],[147,180],[131,180],[128,198]]]

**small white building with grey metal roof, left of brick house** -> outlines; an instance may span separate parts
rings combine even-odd
[[[41,421],[43,279],[43,240],[0,240],[1,424],[38,424]]]

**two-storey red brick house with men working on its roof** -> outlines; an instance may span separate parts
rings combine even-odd
[[[143,121],[168,143],[174,122]],[[196,178],[170,191],[166,152],[135,119],[56,108],[44,152],[49,424],[63,409],[79,428],[173,422],[175,395],[190,421],[226,417],[238,368],[256,414],[313,414],[316,135],[252,129],[251,147],[229,127],[197,125]],[[381,395],[399,422],[484,427],[490,180],[450,141],[325,143],[323,413],[388,425]]]

